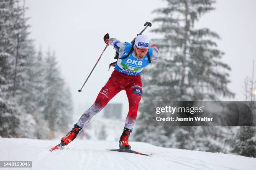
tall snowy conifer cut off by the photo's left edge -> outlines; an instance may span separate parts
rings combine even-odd
[[[10,0],[0,2],[0,136],[18,137],[19,112],[15,108],[16,101],[10,95],[11,59],[14,55],[12,29],[13,6]]]

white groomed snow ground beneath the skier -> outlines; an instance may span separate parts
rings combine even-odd
[[[49,152],[59,140],[0,138],[0,161],[32,161],[22,170],[255,170],[256,158],[161,148],[131,142],[132,149],[153,156],[119,153],[117,142],[74,140],[63,150]],[[0,168],[8,170],[8,168]],[[9,168],[10,170],[19,168]]]

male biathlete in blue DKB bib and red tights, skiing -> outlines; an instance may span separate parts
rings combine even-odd
[[[159,52],[155,45],[149,47],[149,39],[146,35],[138,35],[134,43],[120,42],[115,38],[110,38],[108,34],[103,39],[108,45],[114,46],[118,52],[115,69],[108,82],[100,90],[93,105],[82,114],[78,122],[74,124],[74,128],[61,138],[61,143],[68,145],[73,141],[94,115],[100,112],[118,92],[125,90],[129,102],[129,112],[119,140],[119,148],[131,150],[128,138],[133,130],[142,95],[141,72],[151,60],[156,60]],[[54,147],[51,150],[55,149],[57,148]]]

